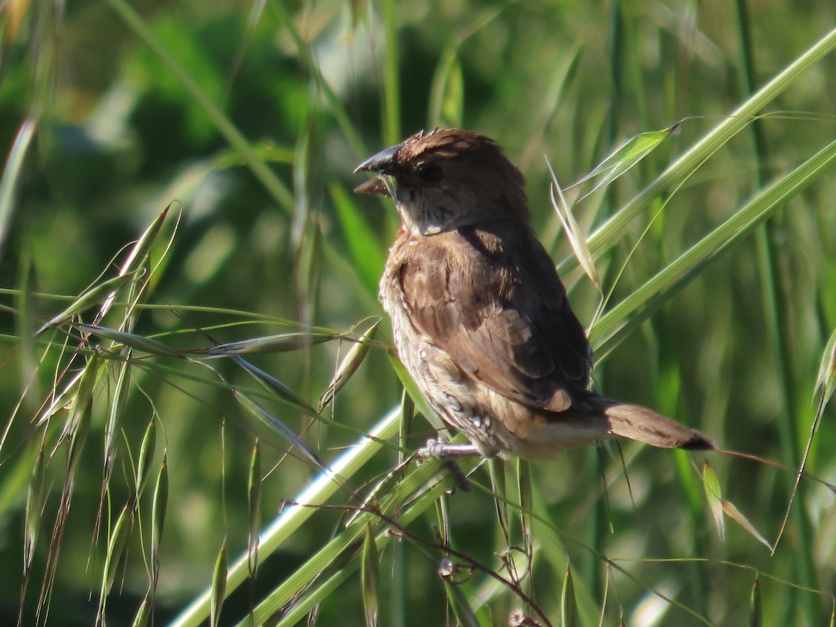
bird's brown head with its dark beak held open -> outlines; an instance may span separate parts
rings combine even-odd
[[[361,163],[377,176],[354,191],[395,196],[415,236],[497,220],[528,222],[523,174],[495,141],[470,130],[416,133]]]

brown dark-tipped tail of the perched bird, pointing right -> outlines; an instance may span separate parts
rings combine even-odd
[[[694,431],[664,415],[641,405],[630,405],[618,400],[596,399],[609,423],[609,433],[657,446],[659,448],[686,448],[694,451],[711,451],[714,443],[699,431]]]

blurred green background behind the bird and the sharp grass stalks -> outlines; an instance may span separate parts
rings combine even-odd
[[[77,334],[56,325],[63,330],[33,343],[32,329],[69,303],[58,297],[82,293],[100,282],[100,273],[114,276],[114,258],[121,263],[125,246],[170,203],[151,253],[161,266],[135,334],[191,349],[288,329],[349,332],[361,323],[361,332],[382,313],[376,281],[397,217],[390,201],[351,196],[360,182],[351,172],[376,150],[422,128],[479,130],[527,176],[535,227],[556,262],[569,260],[564,278],[573,307],[589,324],[601,297],[574,269],[548,200],[543,155],[568,185],[619,142],[681,120],[638,166],[579,204],[576,217],[590,232],[834,23],[828,0],[45,0],[5,3],[3,12],[0,145],[10,163],[23,159],[19,171],[7,166],[0,190],[8,212],[0,231],[0,406],[9,425],[0,449],[3,624],[18,619],[27,493],[41,448],[47,456],[56,452],[46,470],[48,497],[22,622],[35,624],[42,582],[53,572],[53,584],[41,593],[50,609],[39,619],[96,619],[106,509],[95,546],[93,538],[113,380],[102,375],[97,383],[69,518],[50,546],[65,453],[56,448],[61,424],[44,428],[33,419],[50,390],[67,380],[62,369]],[[607,308],[836,136],[834,77],[836,57],[829,54],[794,79],[757,126],[728,138],[681,186],[661,191],[618,241],[608,242],[596,261],[604,293],[612,290]],[[14,142],[26,119],[37,128],[22,149]],[[11,190],[13,196],[3,196]],[[769,542],[781,528],[794,469],[808,444],[819,364],[836,328],[834,196],[833,172],[810,181],[767,226],[699,268],[647,322],[609,346],[595,371],[609,396],[675,416],[723,448],[788,466],[707,456],[723,497]],[[180,222],[172,236],[175,213]],[[82,317],[89,323],[92,314]],[[210,329],[209,336],[198,329]],[[70,339],[61,350],[64,334]],[[390,344],[388,320],[377,339]],[[316,405],[350,345],[332,340],[247,359]],[[170,473],[157,624],[173,619],[210,584],[225,539],[231,559],[247,549],[254,438],[230,386],[256,385],[232,360],[214,360],[212,370],[209,363],[182,355],[140,360],[121,423],[109,486],[111,524],[132,502],[130,477],[152,419],[154,466],[165,449]],[[71,374],[83,364],[73,362]],[[376,346],[324,410],[334,423],[312,421],[293,402],[273,398],[264,405],[328,463],[400,399],[389,356]],[[808,471],[830,482],[836,482],[833,417],[832,408],[824,412],[808,459]],[[410,448],[432,435],[422,419],[413,428]],[[276,466],[263,482],[264,523],[281,499],[293,501],[317,474],[285,457],[285,448],[262,442],[263,474]],[[699,477],[702,456],[691,463],[681,452],[625,445],[624,458],[626,472],[616,448],[569,451],[531,466],[535,500],[559,533],[535,534],[539,553],[523,589],[549,620],[560,619],[567,563],[582,624],[598,624],[599,615],[603,624],[621,618],[628,624],[742,624],[755,614],[750,597],[758,572],[763,624],[822,624],[831,615],[832,490],[802,480],[771,556],[737,523],[728,523],[725,538],[718,536]],[[350,486],[363,494],[396,461],[394,449],[381,451]],[[489,485],[483,469],[473,479]],[[143,555],[150,487],[140,503],[141,522],[108,600],[109,624],[130,624],[149,585]],[[331,503],[358,504],[347,487]],[[497,527],[493,498],[479,490],[456,493],[446,507],[452,546],[498,568],[494,553],[507,538]],[[254,587],[244,585],[228,599],[221,623],[236,624],[339,533],[340,515],[339,508],[316,512],[262,564]],[[427,513],[410,533],[432,541],[435,524],[436,514]],[[455,624],[449,589],[436,573],[441,557],[409,540],[383,551],[381,624],[416,624],[416,612],[421,624]],[[359,579],[354,574],[329,594],[319,624],[363,624]],[[474,608],[486,581],[477,573],[461,587]],[[507,624],[521,605],[505,589],[487,596],[486,608],[475,610],[482,624]]]

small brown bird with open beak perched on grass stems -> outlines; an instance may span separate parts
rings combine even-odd
[[[589,391],[592,352],[531,227],[523,174],[468,130],[417,133],[359,165],[357,192],[394,194],[401,227],[380,281],[400,360],[469,445],[425,455],[547,459],[620,437],[711,441],[640,405]],[[391,190],[391,191],[390,191]]]

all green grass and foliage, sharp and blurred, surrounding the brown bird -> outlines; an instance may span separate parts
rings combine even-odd
[[[821,4],[6,3],[0,623],[823,624]],[[400,465],[441,423],[351,172],[448,124],[523,168],[602,390],[725,451]]]

